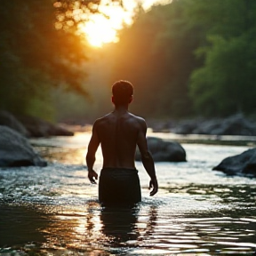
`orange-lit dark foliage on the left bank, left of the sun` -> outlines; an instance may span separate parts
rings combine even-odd
[[[3,0],[0,9],[0,108],[48,117],[52,86],[84,93],[84,45],[54,28],[51,0]],[[83,71],[83,72],[82,72]]]

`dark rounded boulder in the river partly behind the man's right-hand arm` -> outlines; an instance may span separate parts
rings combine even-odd
[[[155,162],[186,162],[186,151],[180,143],[165,141],[156,137],[148,137],[148,149]],[[140,151],[137,149],[135,160],[141,161]]]

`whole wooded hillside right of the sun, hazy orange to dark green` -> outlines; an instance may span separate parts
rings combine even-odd
[[[174,0],[141,14],[115,46],[113,80],[136,84],[144,116],[256,110],[256,2]]]

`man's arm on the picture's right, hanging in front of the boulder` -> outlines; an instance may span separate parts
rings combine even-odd
[[[140,149],[142,164],[146,169],[146,171],[148,172],[148,175],[151,179],[149,182],[149,188],[153,188],[153,189],[150,192],[150,196],[154,196],[158,190],[158,183],[156,179],[155,164],[150,152],[148,151],[148,142],[146,138],[146,132],[147,132],[147,124],[143,119],[141,119],[137,145]]]

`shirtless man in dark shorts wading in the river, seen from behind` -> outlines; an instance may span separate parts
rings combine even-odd
[[[103,168],[100,172],[99,200],[102,204],[136,204],[141,201],[140,180],[135,169],[136,146],[150,177],[150,196],[158,190],[155,164],[148,152],[147,124],[139,116],[128,112],[132,102],[133,86],[127,81],[117,81],[112,86],[113,112],[97,119],[92,127],[92,138],[86,155],[88,178],[96,184],[98,174],[93,170],[95,153],[101,144]]]

